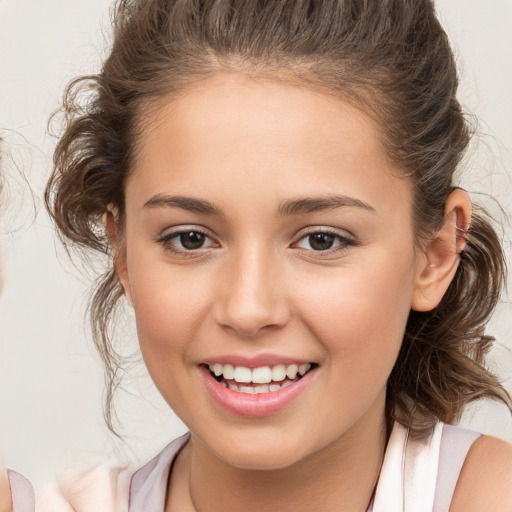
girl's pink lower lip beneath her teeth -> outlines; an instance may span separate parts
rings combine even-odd
[[[213,399],[226,411],[238,416],[262,417],[285,409],[308,386],[315,370],[290,386],[269,393],[248,394],[224,387],[212,376],[208,368],[200,366],[200,373]]]

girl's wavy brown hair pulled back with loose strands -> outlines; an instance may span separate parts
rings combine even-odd
[[[414,187],[418,244],[442,223],[470,134],[457,72],[428,0],[122,1],[102,71],[73,82],[46,202],[61,236],[110,254],[101,218],[113,204],[122,232],[123,186],[144,113],[159,98],[219,71],[298,83],[338,95],[384,127],[389,158]],[[83,92],[87,94],[82,94]],[[510,397],[484,367],[484,326],[505,278],[500,241],[475,209],[467,248],[441,304],[411,312],[388,383],[388,420],[452,423],[469,402]],[[107,370],[106,418],[122,358],[110,322],[123,291],[111,268],[90,307]]]

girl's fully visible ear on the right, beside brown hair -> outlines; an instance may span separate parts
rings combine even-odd
[[[427,242],[418,259],[413,310],[431,311],[441,302],[459,266],[460,253],[466,247],[470,222],[471,200],[464,190],[455,189],[446,200],[441,228]]]

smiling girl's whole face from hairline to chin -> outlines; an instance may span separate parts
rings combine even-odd
[[[193,440],[278,468],[380,428],[424,262],[378,126],[228,74],[143,122],[117,271]]]

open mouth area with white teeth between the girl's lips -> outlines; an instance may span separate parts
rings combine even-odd
[[[204,366],[221,386],[246,395],[262,395],[276,393],[295,384],[318,365],[316,363],[277,364],[248,368],[214,363]]]

